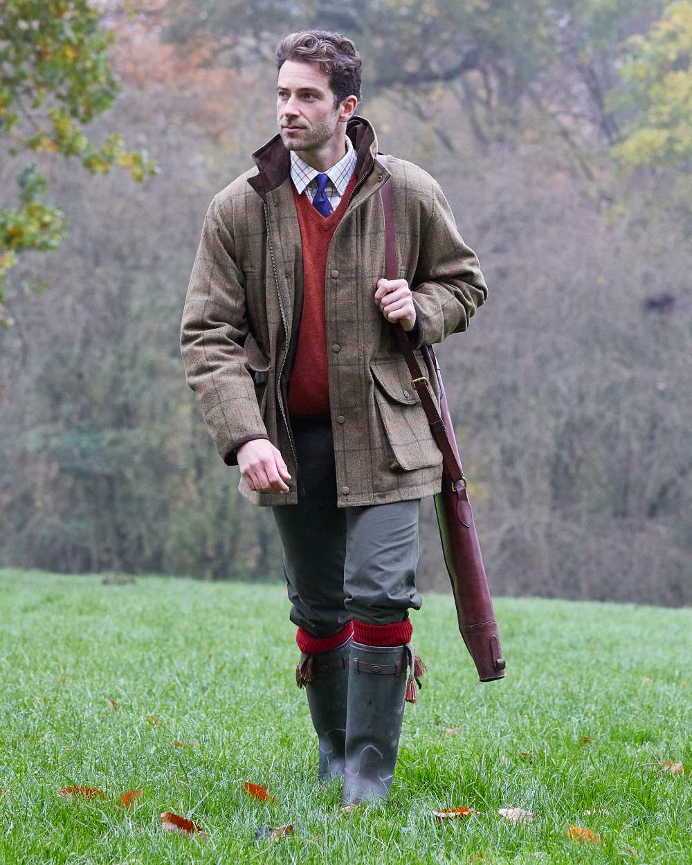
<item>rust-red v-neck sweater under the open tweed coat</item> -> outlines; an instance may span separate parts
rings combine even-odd
[[[323,216],[304,192],[299,195],[295,186],[292,187],[303,245],[303,311],[288,384],[288,412],[293,416],[330,413],[324,272],[330,240],[349,205],[357,179],[354,172],[336,210],[329,216]],[[337,286],[338,283],[330,279],[330,290],[337,291]]]

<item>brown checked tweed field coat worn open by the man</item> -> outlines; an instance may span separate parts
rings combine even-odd
[[[375,304],[385,277],[379,189],[392,180],[399,278],[413,292],[408,334],[439,405],[434,370],[421,345],[466,330],[488,289],[476,253],[462,240],[439,183],[425,170],[375,160],[368,120],[346,127],[357,153],[356,188],[330,241],[325,272],[330,413],[338,507],[397,502],[440,490],[442,455],[411,385],[406,362]],[[287,383],[303,302],[303,255],[290,153],[277,134],[253,153],[255,167],[217,193],[202,226],[183,309],[180,346],[186,381],[227,465],[251,439],[279,448],[287,493],[240,493],[254,504],[298,501],[300,466]],[[397,325],[399,326],[399,325]]]

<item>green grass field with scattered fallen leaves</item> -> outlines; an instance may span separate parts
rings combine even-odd
[[[692,776],[657,771],[692,770],[691,610],[497,599],[508,674],[481,684],[452,599],[427,595],[413,622],[429,672],[392,795],[342,815],[338,782],[317,784],[288,609],[282,586],[0,571],[0,861],[692,863]],[[106,798],[57,796],[73,784]],[[480,813],[432,817],[458,805]],[[164,832],[169,810],[207,843]],[[284,823],[292,836],[254,841]],[[567,838],[574,824],[599,845]]]

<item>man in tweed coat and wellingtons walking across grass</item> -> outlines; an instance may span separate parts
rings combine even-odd
[[[420,499],[442,477],[394,327],[413,349],[439,343],[466,329],[487,287],[432,176],[375,160],[375,130],[355,114],[353,42],[293,33],[277,61],[279,134],[209,205],[181,350],[240,492],[272,508],[318,777],[343,777],[343,803],[357,804],[388,798],[424,669],[408,611],[422,603]],[[390,177],[394,280],[379,193]],[[439,400],[429,365],[427,377]]]

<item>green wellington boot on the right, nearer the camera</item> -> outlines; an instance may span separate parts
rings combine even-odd
[[[407,682],[407,666],[411,676]],[[351,642],[342,804],[384,800],[394,779],[405,697],[415,702],[425,665],[406,646]],[[407,687],[408,684],[408,687]]]

